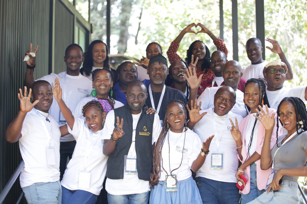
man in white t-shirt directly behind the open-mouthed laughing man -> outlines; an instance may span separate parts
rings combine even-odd
[[[247,111],[244,106],[243,98],[244,93],[238,89],[238,85],[240,82],[240,79],[242,77],[242,69],[241,65],[238,61],[231,60],[226,62],[224,70],[222,72],[222,76],[224,79],[225,86],[231,87],[233,90],[235,90],[236,93],[236,103],[231,109],[231,111],[235,114],[241,115],[242,117],[247,116]],[[216,94],[216,91],[220,88],[219,87],[208,87],[206,88],[203,93],[199,96],[197,99],[197,102],[201,102],[200,108],[202,110],[206,110],[209,108],[214,107],[214,96]],[[189,98],[190,100],[190,98]],[[192,100],[192,99],[191,99]]]

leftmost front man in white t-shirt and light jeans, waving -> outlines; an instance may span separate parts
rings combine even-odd
[[[32,90],[27,96],[26,87],[24,95],[19,89],[20,111],[7,127],[5,139],[9,143],[19,141],[21,157],[25,162],[20,174],[20,186],[27,202],[61,203],[61,133],[59,124],[49,115],[52,87],[47,81],[38,80],[33,83]]]

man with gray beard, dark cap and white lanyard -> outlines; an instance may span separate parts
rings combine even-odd
[[[148,97],[146,99],[146,106],[157,110],[162,124],[165,117],[164,110],[170,100],[181,100],[185,104],[187,104],[187,100],[181,91],[165,85],[169,68],[166,58],[160,53],[150,58],[147,74],[150,78],[150,85],[147,87]]]

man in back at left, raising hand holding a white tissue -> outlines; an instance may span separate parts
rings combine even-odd
[[[32,52],[32,43],[30,46]],[[37,48],[34,53],[36,53]],[[27,71],[25,73],[25,86],[29,88],[34,82],[33,70],[36,64],[36,57],[31,56],[29,52],[27,55],[29,56],[29,60],[27,61]],[[73,110],[82,98],[91,95],[92,82],[80,74],[80,67],[84,61],[84,56],[83,50],[78,44],[71,44],[66,48],[64,61],[67,67],[66,72],[61,72],[59,74],[51,73],[38,80],[46,80],[51,84],[54,83],[56,77],[59,78],[63,91],[62,98],[67,107]],[[57,103],[52,104],[49,113],[55,118],[60,126],[66,124]],[[76,141],[71,134],[68,134],[62,137],[60,142],[60,172],[62,178],[66,169],[67,157],[69,157],[69,159],[72,158]]]

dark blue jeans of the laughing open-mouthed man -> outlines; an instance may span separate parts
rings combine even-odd
[[[222,182],[196,177],[201,200],[204,203],[211,204],[236,204],[239,203],[240,194],[236,183]]]

